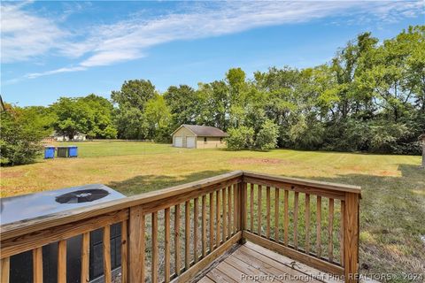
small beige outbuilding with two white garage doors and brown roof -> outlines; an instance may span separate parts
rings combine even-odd
[[[214,126],[182,125],[173,134],[173,146],[188,149],[224,148],[228,134]]]

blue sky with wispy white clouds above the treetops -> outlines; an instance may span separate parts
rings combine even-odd
[[[2,2],[4,101],[109,98],[124,80],[170,85],[326,63],[357,34],[424,25],[424,1]]]

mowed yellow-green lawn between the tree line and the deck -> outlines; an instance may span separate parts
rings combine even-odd
[[[66,145],[61,143],[60,145]],[[425,273],[425,170],[421,157],[275,149],[175,149],[148,142],[78,142],[78,158],[2,168],[1,195],[103,183],[135,195],[233,170],[362,187],[360,264],[364,274]]]

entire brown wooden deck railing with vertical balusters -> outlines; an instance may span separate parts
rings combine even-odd
[[[16,222],[1,226],[1,282],[9,282],[10,256],[30,250],[34,282],[42,282],[42,247],[53,242],[58,282],[66,282],[66,241],[77,235],[82,235],[81,282],[88,282],[89,236],[99,228],[104,282],[111,282],[107,240],[115,223],[121,223],[121,282],[187,282],[246,240],[355,282],[359,197],[359,187],[230,172]]]

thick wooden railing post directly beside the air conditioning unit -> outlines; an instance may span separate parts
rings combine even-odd
[[[128,279],[130,283],[144,281],[144,223],[142,206],[130,208],[130,218],[128,218]]]

